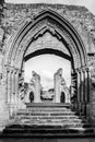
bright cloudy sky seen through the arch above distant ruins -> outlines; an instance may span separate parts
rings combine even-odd
[[[29,82],[32,79],[32,71],[36,71],[40,75],[40,82],[44,90],[52,88],[54,73],[56,73],[59,68],[62,68],[62,76],[66,80],[67,86],[70,86],[70,61],[49,54],[34,57],[25,62],[25,82]]]

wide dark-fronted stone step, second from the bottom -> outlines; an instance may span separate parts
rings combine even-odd
[[[66,129],[83,129],[83,130],[91,130],[91,129],[93,129],[92,127],[87,127],[87,128],[84,128],[83,127],[84,125],[82,125],[82,123],[76,123],[76,125],[73,125],[73,123],[70,123],[70,125],[68,125],[68,123],[55,123],[55,122],[48,122],[48,123],[39,123],[39,122],[27,122],[27,123],[19,123],[19,122],[14,122],[14,123],[11,123],[11,126],[7,126],[7,128],[9,128],[9,129],[23,129],[23,128],[27,128],[27,129],[46,129],[46,128],[48,128],[48,129],[61,129],[61,130],[63,130],[64,128]],[[86,126],[86,125],[85,125]]]

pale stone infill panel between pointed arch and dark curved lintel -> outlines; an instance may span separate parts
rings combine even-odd
[[[43,37],[38,37],[36,40],[32,43],[28,49],[25,52],[25,56],[31,55],[34,51],[41,49],[54,49],[58,51],[62,51],[70,57],[70,52],[67,47],[62,44],[61,40],[57,39],[57,37],[52,36],[49,32],[45,33]]]

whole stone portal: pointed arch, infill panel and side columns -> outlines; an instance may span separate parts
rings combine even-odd
[[[51,10],[41,11],[34,21],[25,23],[7,44],[8,51],[5,60],[3,59],[3,82],[7,84],[3,85],[3,94],[7,105],[12,108],[12,111],[11,109],[8,111],[11,111],[12,115],[22,108],[20,105],[25,95],[25,91],[23,91],[25,61],[38,52],[45,54],[47,51],[48,54],[52,50],[55,54],[60,52],[71,61],[71,95],[73,94],[75,98],[76,109],[84,111],[84,106],[90,102],[90,74],[85,47],[79,33],[64,17]],[[44,38],[41,39],[41,37]],[[39,102],[38,96],[35,98],[36,102]],[[58,95],[56,102],[60,103]]]

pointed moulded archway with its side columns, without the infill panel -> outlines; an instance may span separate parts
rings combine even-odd
[[[23,79],[24,71],[24,55],[28,46],[46,32],[61,40],[71,55],[72,73],[75,74],[78,81],[78,107],[82,107],[88,102],[86,93],[90,90],[85,47],[75,28],[66,19],[51,10],[40,12],[34,19],[34,22],[26,22],[15,35],[12,35],[11,42],[7,43],[5,58],[3,59],[3,78],[7,81],[7,84],[4,84],[5,102],[9,105],[17,106],[19,82]],[[63,52],[62,48],[57,49]],[[32,52],[37,50],[38,48],[33,48]],[[86,88],[85,92],[84,88]]]

